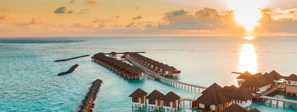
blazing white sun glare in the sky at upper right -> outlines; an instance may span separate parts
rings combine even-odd
[[[231,10],[235,10],[235,17],[239,24],[245,26],[247,31],[251,31],[261,18],[260,8],[268,0],[227,0]]]

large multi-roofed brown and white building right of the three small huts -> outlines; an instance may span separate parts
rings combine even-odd
[[[195,110],[220,112],[231,104],[238,104],[241,108],[247,108],[252,104],[252,94],[241,87],[225,86],[222,88],[217,83],[212,84],[202,95],[192,102]]]

